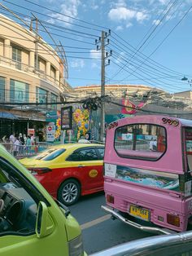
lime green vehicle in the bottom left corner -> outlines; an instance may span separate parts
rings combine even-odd
[[[81,228],[0,145],[0,256],[82,256]]]

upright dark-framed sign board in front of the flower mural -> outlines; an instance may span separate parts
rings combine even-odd
[[[72,106],[61,108],[61,129],[72,130]]]

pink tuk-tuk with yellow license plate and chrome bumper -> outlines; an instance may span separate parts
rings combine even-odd
[[[102,208],[113,218],[163,234],[192,223],[192,121],[150,115],[112,122],[104,170]]]

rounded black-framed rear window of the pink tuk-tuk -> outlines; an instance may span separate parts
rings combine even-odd
[[[115,149],[120,157],[156,161],[166,150],[163,126],[131,124],[116,129]]]

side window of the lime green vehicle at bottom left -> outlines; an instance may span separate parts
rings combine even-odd
[[[20,170],[0,157],[0,236],[35,233],[40,196]]]

